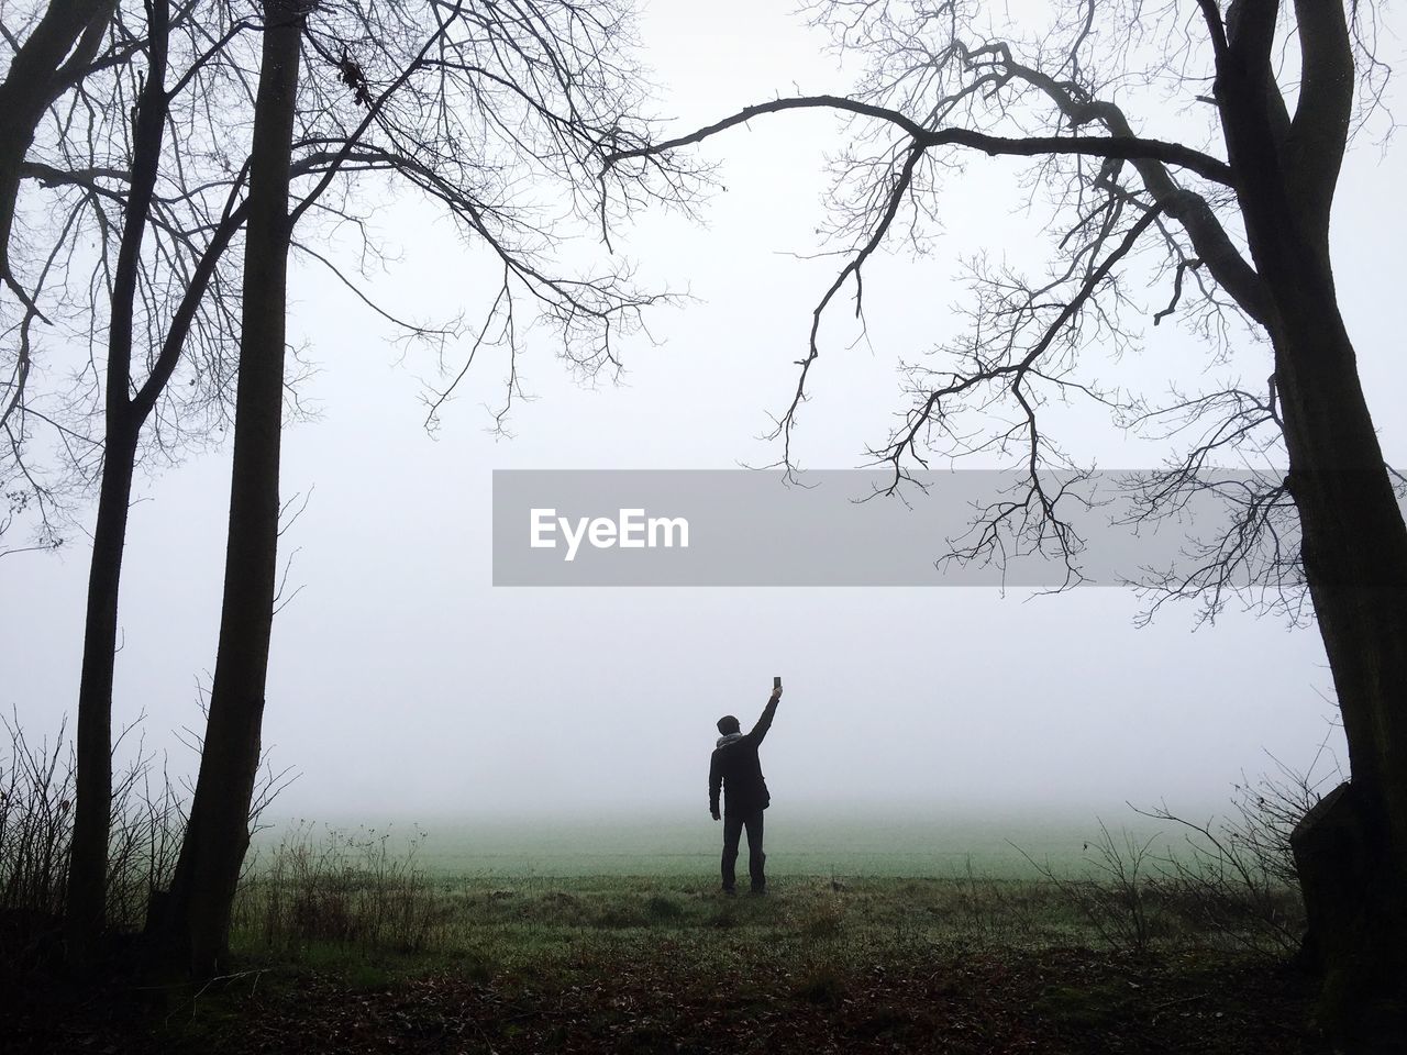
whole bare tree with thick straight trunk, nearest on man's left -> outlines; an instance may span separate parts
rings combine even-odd
[[[440,207],[502,267],[466,369],[491,345],[512,363],[526,302],[556,328],[575,370],[609,371],[619,333],[656,300],[620,269],[574,276],[552,262],[561,203],[595,224],[606,152],[644,141],[640,82],[625,65],[629,30],[612,0],[265,0],[262,14],[219,646],[190,823],[159,921],[197,975],[227,952],[249,843],[276,605],[287,257],[301,248],[322,259],[294,239],[297,225],[355,221],[363,173],[390,174]],[[651,193],[649,180],[613,181]]]

